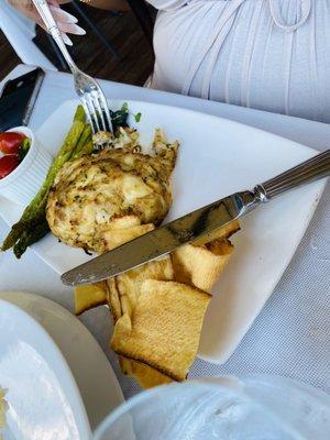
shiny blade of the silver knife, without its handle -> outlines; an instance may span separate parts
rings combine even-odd
[[[176,248],[206,239],[227,223],[250,212],[261,200],[252,191],[237,193],[197,209],[116,248],[62,275],[65,285],[96,283],[156,260]]]

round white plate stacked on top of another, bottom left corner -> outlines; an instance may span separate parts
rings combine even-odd
[[[8,389],[7,438],[90,438],[80,394],[61,351],[30,315],[4,300],[0,300],[0,386]]]

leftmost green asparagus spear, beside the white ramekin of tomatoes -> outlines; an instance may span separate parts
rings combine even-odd
[[[79,106],[77,108],[72,129],[68,132],[56,158],[54,160],[43,186],[34,199],[25,208],[19,222],[11,228],[10,233],[2,244],[2,251],[11,249],[18,242],[18,240],[20,240],[24,232],[28,233],[29,230],[35,228],[40,219],[45,217],[48,191],[54,183],[58,169],[70,158],[73,152],[75,151],[85,129],[85,121],[86,116],[84,108]]]

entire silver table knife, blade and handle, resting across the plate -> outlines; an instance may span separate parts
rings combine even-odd
[[[111,278],[166,255],[185,243],[201,238],[207,241],[215,231],[257,206],[329,175],[330,150],[327,150],[271,180],[256,185],[251,191],[233,194],[97,256],[65,273],[61,279],[72,286]]]

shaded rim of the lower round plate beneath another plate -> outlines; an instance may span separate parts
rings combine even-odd
[[[1,292],[1,299],[28,312],[54,340],[75,377],[92,429],[123,403],[120,385],[102,349],[68,310],[25,292]]]

